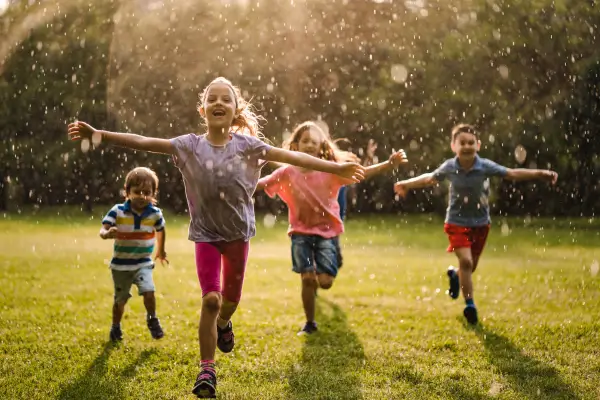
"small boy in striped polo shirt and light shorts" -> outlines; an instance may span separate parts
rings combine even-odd
[[[144,297],[147,311],[146,323],[154,339],[164,336],[156,317],[156,298],[152,270],[152,252],[156,246],[156,258],[167,261],[165,252],[165,220],[162,211],[155,207],[158,193],[158,177],[149,168],[138,167],[125,177],[123,204],[116,204],[102,220],[100,237],[115,239],[114,254],[110,262],[115,286],[110,340],[123,339],[121,318],[125,304],[131,297],[131,285]]]

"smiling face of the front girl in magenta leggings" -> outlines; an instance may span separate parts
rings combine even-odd
[[[211,84],[199,111],[209,129],[222,128],[228,131],[236,113],[236,97],[231,86],[224,82]]]

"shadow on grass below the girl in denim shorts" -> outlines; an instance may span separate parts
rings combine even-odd
[[[288,381],[292,399],[362,399],[360,373],[365,354],[346,314],[319,297],[319,331],[304,337],[302,359],[292,364]]]

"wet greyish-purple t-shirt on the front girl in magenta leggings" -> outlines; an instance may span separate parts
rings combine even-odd
[[[248,240],[256,234],[252,195],[271,146],[253,136],[232,133],[224,146],[206,135],[171,139],[175,165],[183,175],[190,210],[189,240]]]

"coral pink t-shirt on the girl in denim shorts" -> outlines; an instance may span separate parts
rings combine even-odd
[[[319,235],[326,239],[344,232],[337,197],[340,188],[351,183],[338,175],[291,165],[259,180],[267,195],[278,195],[287,204],[288,235]]]

